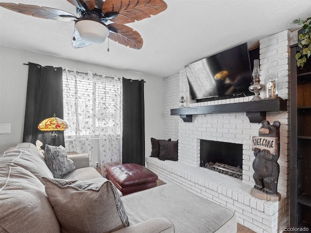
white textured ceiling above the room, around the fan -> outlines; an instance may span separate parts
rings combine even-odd
[[[134,50],[107,40],[73,49],[74,23],[41,19],[0,7],[0,45],[85,63],[167,77],[201,58],[244,42],[298,26],[296,18],[311,17],[311,0],[165,0],[164,12],[127,24],[144,44]],[[5,0],[47,6],[75,14],[67,0]]]

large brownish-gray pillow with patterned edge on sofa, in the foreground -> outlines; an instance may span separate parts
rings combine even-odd
[[[43,180],[63,232],[110,233],[129,226],[120,196],[110,181]]]

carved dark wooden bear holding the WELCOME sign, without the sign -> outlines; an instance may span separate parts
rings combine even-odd
[[[262,121],[259,129],[259,136],[277,137],[279,139],[280,122],[274,121],[270,125],[269,121]],[[279,149],[278,149],[279,150]],[[277,163],[279,151],[277,154],[270,154],[270,150],[254,149],[255,159],[253,162],[255,180],[254,187],[270,195],[277,194],[277,181],[279,175],[279,165]]]

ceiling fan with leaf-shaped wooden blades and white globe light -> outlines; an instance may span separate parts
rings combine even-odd
[[[92,43],[103,43],[105,38],[133,49],[141,49],[143,40],[134,29],[124,25],[157,15],[167,8],[163,0],[67,0],[77,9],[75,15],[35,5],[0,3],[0,6],[24,15],[74,21],[73,48],[82,48]]]

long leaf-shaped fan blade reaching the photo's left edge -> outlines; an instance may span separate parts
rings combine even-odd
[[[73,21],[77,17],[69,12],[35,5],[25,5],[25,4],[15,4],[15,3],[0,3],[0,6],[15,11],[20,14],[27,16],[33,16],[45,19],[63,20],[63,21]]]

